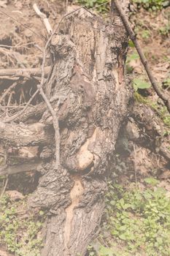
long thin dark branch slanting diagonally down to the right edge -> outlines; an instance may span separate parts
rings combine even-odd
[[[112,3],[115,4],[115,7],[117,9],[117,12],[120,15],[120,18],[123,20],[123,24],[125,26],[126,31],[129,34],[129,37],[131,38],[131,40],[134,42],[134,45],[136,47],[137,52],[139,53],[139,57],[142,61],[142,64],[144,66],[144,69],[147,72],[148,78],[150,79],[150,83],[152,84],[153,89],[155,90],[156,94],[158,95],[158,97],[160,97],[164,104],[166,105],[167,110],[169,110],[170,113],[170,98],[168,95],[164,94],[163,91],[159,88],[155,77],[152,75],[151,69],[149,67],[148,61],[146,59],[146,57],[144,56],[144,53],[142,52],[142,48],[139,45],[138,40],[136,39],[136,34],[134,33],[133,29],[131,29],[131,25],[128,22],[128,18],[126,18],[122,7],[120,7],[119,1],[118,0],[112,0]]]

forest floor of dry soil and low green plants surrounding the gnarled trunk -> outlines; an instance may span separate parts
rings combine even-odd
[[[36,1],[52,26],[65,13],[63,1]],[[32,1],[0,0],[0,68],[41,67],[46,33],[34,12]],[[71,10],[73,6],[69,6]],[[74,6],[75,8],[75,6]],[[5,14],[5,13],[6,14]],[[104,15],[106,21],[107,15]],[[13,19],[12,19],[13,18]],[[17,22],[17,21],[19,22]],[[170,90],[170,7],[158,12],[134,9],[131,23],[160,86]],[[31,30],[30,30],[31,29]],[[129,42],[127,73],[134,86],[136,104],[149,106],[158,117],[162,143],[170,150],[170,116],[150,87],[133,43]],[[0,79],[5,89],[8,78]],[[28,91],[30,93],[30,91]],[[27,101],[26,91],[18,98]],[[15,104],[11,94],[9,104]],[[170,163],[155,148],[125,142],[117,146],[106,211],[101,230],[90,244],[90,256],[170,255]],[[1,155],[0,155],[1,162]],[[0,176],[0,256],[38,256],[42,246],[40,230],[45,212],[31,211],[28,194],[38,184],[37,173]],[[4,193],[4,191],[6,193]],[[75,255],[72,255],[75,256]]]

